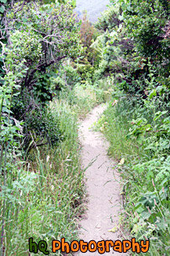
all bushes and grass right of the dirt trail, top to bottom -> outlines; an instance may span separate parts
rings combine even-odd
[[[150,239],[148,255],[170,252],[168,1],[113,2],[96,27],[112,100],[98,126],[118,160],[125,229]],[[103,43],[103,47],[101,44]]]

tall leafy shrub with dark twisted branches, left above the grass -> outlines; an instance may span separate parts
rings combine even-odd
[[[42,2],[4,2],[6,11],[2,18],[6,34],[8,58],[13,59],[10,71],[22,63],[24,75],[18,79],[20,89],[15,89],[11,102],[13,118],[24,121],[25,138],[22,145],[27,149],[34,140],[40,144],[54,143],[59,140],[60,131],[52,130],[51,117],[45,115],[45,106],[59,88],[51,83],[56,79],[57,69],[65,58],[76,58],[81,50],[79,43],[79,24],[70,2],[42,4]],[[67,23],[65,23],[67,20]],[[9,61],[6,58],[6,64]],[[72,86],[79,80],[78,74],[71,66],[63,72],[66,82]],[[9,72],[5,70],[5,72]],[[4,74],[5,75],[5,74]],[[3,75],[3,76],[4,76]],[[50,81],[51,80],[51,81]],[[56,125],[54,124],[56,131]],[[33,144],[32,144],[33,146]]]

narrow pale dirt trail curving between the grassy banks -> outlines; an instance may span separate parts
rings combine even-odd
[[[92,110],[81,123],[79,138],[82,145],[81,159],[85,171],[85,183],[88,192],[87,210],[80,222],[81,230],[79,239],[85,242],[95,240],[121,240],[121,234],[108,232],[118,225],[120,206],[119,176],[114,169],[114,163],[107,156],[109,144],[100,132],[92,131],[92,124],[98,121],[106,106],[100,105]],[[95,161],[96,159],[96,161]],[[87,179],[87,180],[86,180]],[[99,252],[81,253],[76,255],[101,255]],[[107,255],[120,255],[110,248]],[[125,255],[125,254],[124,254]]]

